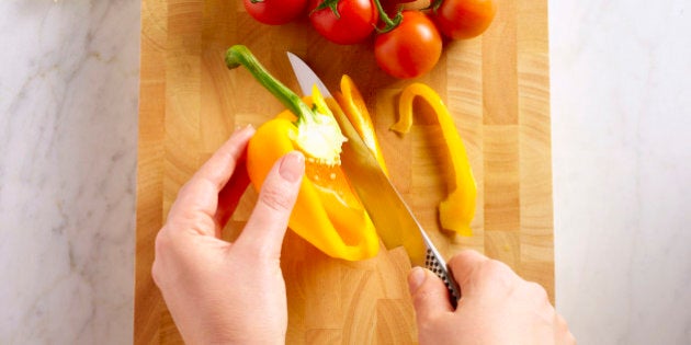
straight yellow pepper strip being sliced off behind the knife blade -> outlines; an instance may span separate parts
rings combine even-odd
[[[376,139],[376,134],[374,131],[374,125],[372,124],[372,117],[370,116],[370,112],[367,112],[367,105],[355,87],[355,82],[347,74],[343,74],[341,78],[341,91],[335,92],[333,97],[340,105],[341,110],[348,117],[358,134],[363,139],[364,143],[367,146],[376,161],[382,166],[384,173],[388,176],[388,169],[386,168],[386,163],[384,162],[384,153],[382,153],[382,147],[380,146],[380,141]]]

